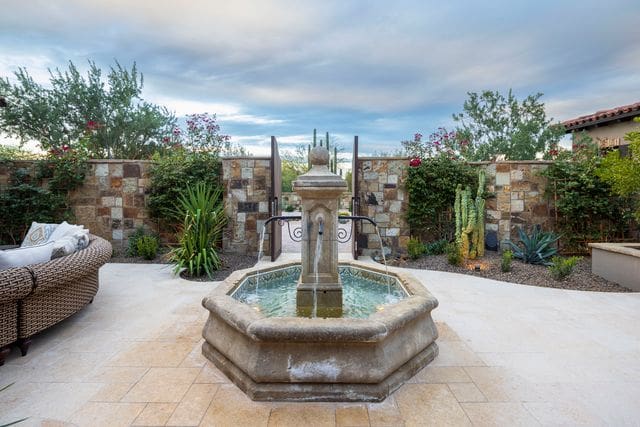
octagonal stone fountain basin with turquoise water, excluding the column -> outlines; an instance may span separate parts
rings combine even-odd
[[[203,354],[253,400],[384,400],[437,356],[438,301],[409,274],[339,270],[341,318],[296,317],[299,264],[233,273],[202,302]]]

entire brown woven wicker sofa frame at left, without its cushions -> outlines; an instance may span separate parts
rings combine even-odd
[[[109,242],[91,235],[89,246],[71,255],[0,271],[0,365],[8,345],[17,342],[25,356],[33,335],[93,301],[98,269],[111,250]]]

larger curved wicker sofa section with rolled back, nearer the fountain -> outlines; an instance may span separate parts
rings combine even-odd
[[[93,302],[98,269],[111,258],[111,244],[90,236],[89,246],[51,261],[30,265],[33,291],[19,303],[18,345],[25,356],[31,337]]]

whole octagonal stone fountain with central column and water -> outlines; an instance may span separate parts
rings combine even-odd
[[[311,170],[294,182],[301,263],[236,271],[202,302],[203,354],[254,400],[381,401],[438,354],[438,301],[420,282],[338,263],[346,183],[328,159],[314,148]]]

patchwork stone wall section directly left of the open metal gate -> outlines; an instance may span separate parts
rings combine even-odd
[[[270,173],[269,157],[222,159],[225,212],[229,217],[223,239],[225,252],[258,253],[260,231],[269,218]],[[265,254],[269,254],[269,230],[264,240]]]

